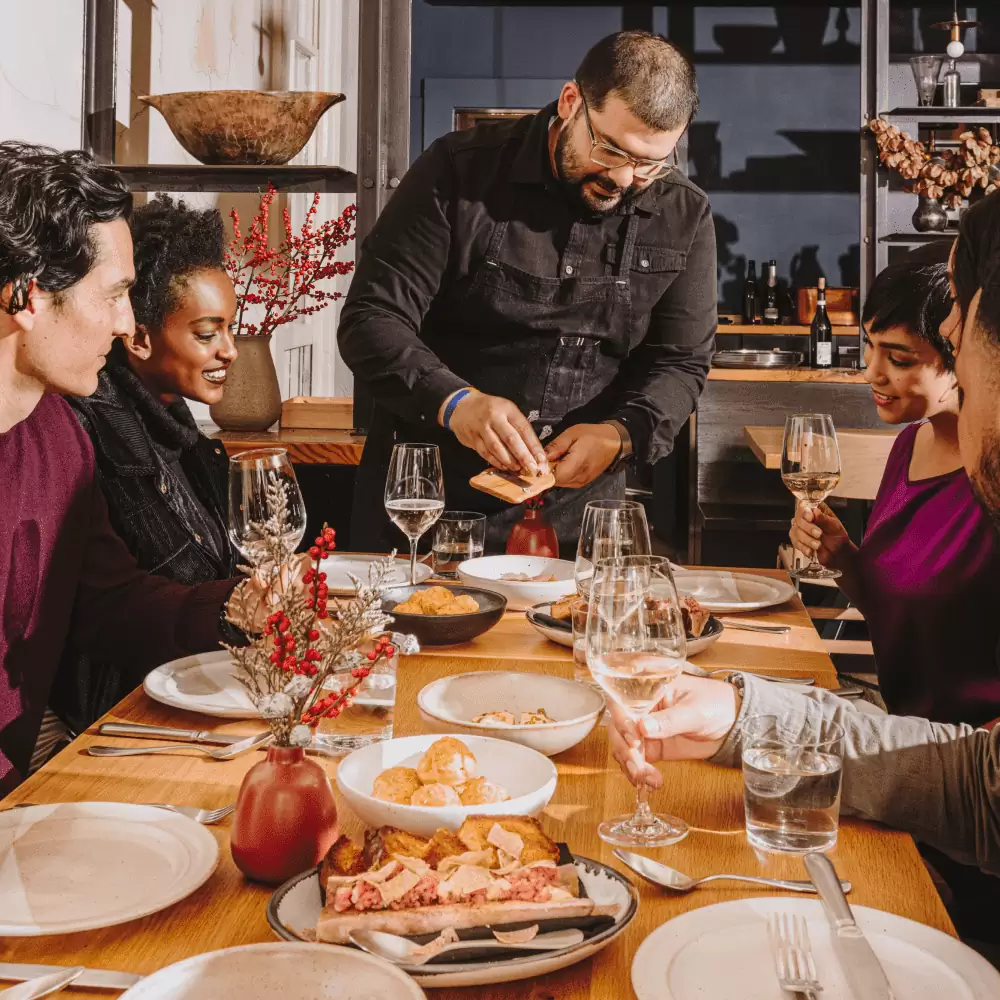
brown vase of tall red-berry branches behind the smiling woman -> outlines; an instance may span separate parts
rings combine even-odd
[[[277,191],[261,197],[257,214],[244,234],[234,208],[233,238],[226,270],[236,289],[236,346],[239,355],[229,369],[222,400],[211,408],[223,430],[266,430],[281,416],[281,391],[271,358],[271,336],[286,323],[311,316],[343,296],[329,287],[354,270],[354,261],[337,255],[354,239],[353,205],[339,218],[317,223],[320,196],[314,195],[302,226],[292,228],[286,207],[284,239],[271,246],[271,205]]]

